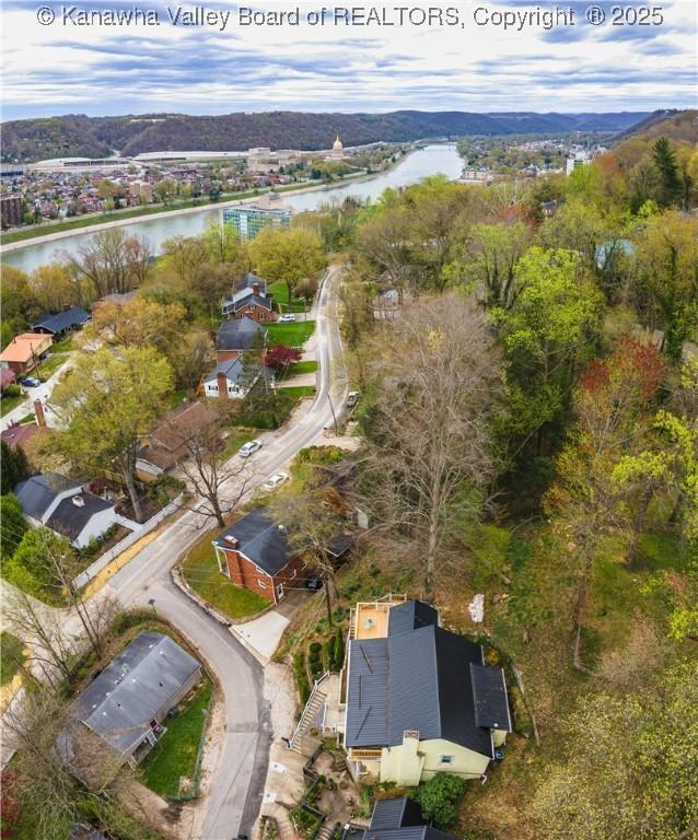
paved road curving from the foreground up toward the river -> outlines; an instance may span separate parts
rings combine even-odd
[[[347,375],[339,334],[336,287],[339,269],[323,283],[316,317],[321,366],[316,398],[309,412],[280,436],[263,435],[264,448],[251,459],[254,487],[310,445],[333,422],[346,399]],[[210,523],[188,511],[117,572],[107,590],[125,606],[147,606],[171,620],[201,652],[225,695],[226,726],[216,778],[211,784],[203,840],[230,840],[251,835],[261,803],[270,726],[263,698],[264,672],[244,648],[210,616],[200,610],[170,578],[170,569]]]

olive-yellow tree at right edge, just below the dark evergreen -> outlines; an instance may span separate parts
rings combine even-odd
[[[638,242],[639,291],[659,313],[662,349],[674,360],[698,324],[697,231],[696,219],[668,212],[650,219]]]

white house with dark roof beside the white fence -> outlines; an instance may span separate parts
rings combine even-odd
[[[45,472],[21,481],[14,493],[32,527],[42,525],[67,537],[75,548],[100,539],[113,525],[129,523],[116,513],[109,499],[82,489],[78,481],[58,472]]]

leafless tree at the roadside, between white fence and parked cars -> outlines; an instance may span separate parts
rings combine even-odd
[[[230,515],[247,491],[253,476],[245,460],[222,460],[223,442],[218,423],[194,434],[183,443],[178,467],[194,488],[196,510],[225,526]]]

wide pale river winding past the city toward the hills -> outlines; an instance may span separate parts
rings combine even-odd
[[[313,189],[303,192],[287,192],[283,202],[294,210],[315,210],[327,201],[342,201],[347,196],[376,199],[388,187],[406,187],[416,184],[428,175],[442,173],[451,180],[461,175],[463,161],[455,145],[428,145],[412,152],[386,173],[373,178],[357,180],[330,189]],[[173,236],[196,236],[206,230],[213,219],[220,219],[221,208],[208,208],[185,213],[173,213],[160,219],[135,220],[125,224],[127,233],[147,241],[153,254],[159,254],[162,243]],[[47,232],[49,232],[47,230]],[[61,252],[74,254],[94,237],[94,231],[75,231],[53,242],[34,243],[31,241],[15,250],[2,255],[2,261],[16,266],[24,271],[32,271],[38,266],[60,259]]]

